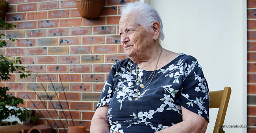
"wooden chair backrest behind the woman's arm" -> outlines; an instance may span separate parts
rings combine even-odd
[[[219,133],[219,125],[223,126],[226,111],[228,108],[228,101],[231,94],[231,88],[225,87],[224,90],[210,92],[210,108],[219,108],[213,133]],[[223,131],[223,130],[222,130]]]

